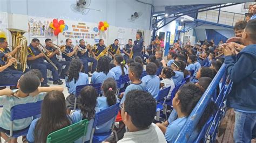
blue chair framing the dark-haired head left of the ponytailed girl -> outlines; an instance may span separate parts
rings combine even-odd
[[[92,87],[94,87],[95,89],[96,89],[96,91],[97,91],[97,94],[99,94],[100,95],[100,93],[102,92],[102,84],[101,83],[93,83],[93,84],[85,84],[85,85],[78,85],[77,87],[76,87],[76,95],[75,95],[75,103],[74,103],[74,108],[73,108],[73,110],[76,110],[76,108],[77,108],[77,97],[80,95],[80,91],[84,88],[84,87],[86,87],[86,86],[89,86],[89,85],[91,85]]]

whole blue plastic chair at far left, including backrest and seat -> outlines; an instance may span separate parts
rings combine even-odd
[[[5,140],[7,142],[11,138],[18,138],[22,135],[28,134],[29,127],[25,128],[24,130],[21,130],[19,132],[13,132],[14,130],[14,120],[18,119],[24,119],[32,116],[37,116],[41,113],[41,104],[43,101],[38,101],[35,103],[25,103],[25,104],[18,104],[15,106],[12,106],[11,108],[11,128],[9,138]]]

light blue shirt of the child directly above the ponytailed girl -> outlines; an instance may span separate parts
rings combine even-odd
[[[112,71],[109,71],[107,74],[104,74],[103,71],[99,73],[95,71],[92,74],[91,83],[103,83],[107,78],[113,78],[116,80],[116,75]]]

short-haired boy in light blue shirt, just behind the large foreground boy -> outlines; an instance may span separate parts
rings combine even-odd
[[[127,93],[131,90],[146,90],[146,85],[144,82],[142,82],[139,78],[140,75],[142,75],[143,67],[142,64],[138,62],[133,62],[130,64],[129,67],[129,79],[131,81],[131,84],[126,87],[124,94],[121,94],[120,97],[123,96],[122,100],[120,103],[124,103],[125,101],[125,96]]]

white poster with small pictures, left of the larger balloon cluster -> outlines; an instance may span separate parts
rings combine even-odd
[[[31,38],[50,38],[53,37],[53,30],[49,27],[52,18],[45,17],[28,17],[29,37]]]

